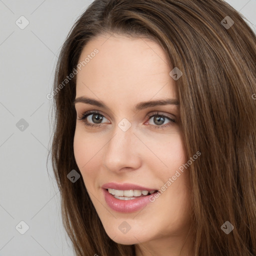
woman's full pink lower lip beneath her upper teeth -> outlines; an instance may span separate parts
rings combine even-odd
[[[110,194],[106,189],[103,189],[103,194],[107,205],[111,209],[118,212],[133,212],[145,207],[147,203],[151,202],[149,200],[149,197],[152,196],[154,193],[130,200],[117,199],[112,194]]]

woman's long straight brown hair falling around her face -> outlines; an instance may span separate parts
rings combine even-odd
[[[150,38],[170,70],[183,73],[176,84],[184,145],[189,156],[201,152],[189,167],[194,255],[255,256],[256,37],[223,0],[95,0],[71,28],[48,98],[55,113],[52,167],[76,255],[135,255],[134,244],[107,236],[83,179],[67,178],[72,169],[80,172],[73,152],[76,79],[65,79],[85,44],[103,33]],[[229,234],[220,228],[225,221],[234,226]]]

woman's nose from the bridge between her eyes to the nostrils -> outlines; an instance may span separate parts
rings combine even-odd
[[[119,170],[123,167],[137,168],[139,156],[134,148],[134,140],[131,123],[121,120],[113,130],[113,136],[108,141],[103,157],[104,165],[110,170]]]

